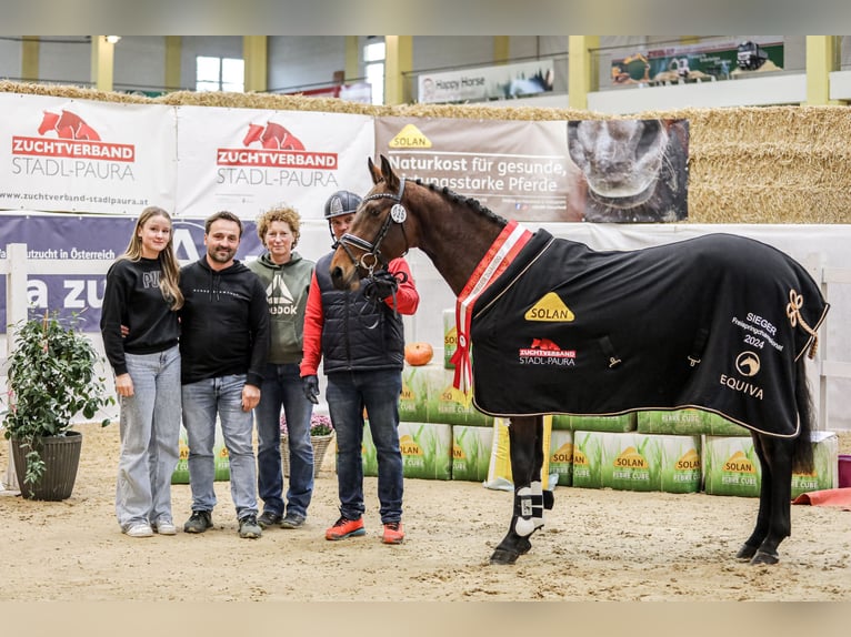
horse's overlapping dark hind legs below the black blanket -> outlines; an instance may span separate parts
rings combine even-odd
[[[794,443],[753,433],[762,467],[757,525],[737,557],[751,564],[777,564],[778,546],[791,533],[792,452]]]

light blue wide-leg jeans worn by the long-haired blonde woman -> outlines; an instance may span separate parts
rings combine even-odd
[[[180,438],[180,351],[124,354],[133,395],[122,396],[121,454],[116,481],[116,517],[133,524],[171,522],[171,474]]]

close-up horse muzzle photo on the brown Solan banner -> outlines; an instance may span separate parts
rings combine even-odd
[[[568,149],[580,171],[572,219],[604,223],[688,218],[687,120],[571,120]]]

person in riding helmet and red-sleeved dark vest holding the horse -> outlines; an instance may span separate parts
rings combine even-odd
[[[334,246],[349,230],[361,199],[338,191],[324,205]],[[381,540],[401,544],[402,454],[399,448],[399,395],[402,391],[404,330],[401,314],[420,303],[411,270],[403,257],[373,263],[370,275],[353,291],[337,290],[329,266],[333,252],[318,262],[304,315],[301,377],[307,397],[318,403],[320,361],[328,378],[326,398],[337,431],[337,481],[340,517],[326,530],[338,540],[366,534],[363,526],[364,408],[378,453]],[[382,267],[378,267],[382,265]]]

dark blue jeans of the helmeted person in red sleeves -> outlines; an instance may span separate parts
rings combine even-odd
[[[363,408],[378,453],[378,499],[382,523],[402,519],[402,453],[399,448],[399,395],[402,373],[336,372],[328,375],[326,398],[337,429],[337,484],[340,514],[363,515]]]

